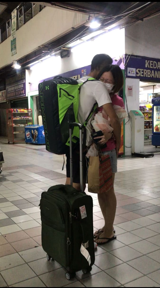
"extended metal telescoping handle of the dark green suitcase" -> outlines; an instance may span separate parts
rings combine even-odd
[[[69,124],[70,128],[70,180],[73,184],[73,167],[72,167],[72,127],[78,126],[80,129],[80,191],[83,192],[83,157],[82,157],[82,124],[73,122]]]

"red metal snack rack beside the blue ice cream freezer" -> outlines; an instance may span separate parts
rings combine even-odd
[[[7,109],[8,144],[25,141],[25,126],[32,125],[32,109]]]

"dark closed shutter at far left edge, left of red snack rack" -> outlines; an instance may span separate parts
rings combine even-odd
[[[10,102],[0,103],[0,136],[7,137],[7,109],[10,108]]]

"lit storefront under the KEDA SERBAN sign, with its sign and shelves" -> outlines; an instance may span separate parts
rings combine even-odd
[[[125,54],[125,63],[128,110],[140,110],[144,114],[144,145],[151,145],[156,126],[152,98],[154,94],[160,93],[160,59]],[[126,135],[129,142],[129,125],[126,126]]]

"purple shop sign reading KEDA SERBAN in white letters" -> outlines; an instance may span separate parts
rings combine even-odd
[[[145,81],[160,80],[160,59],[125,54],[125,74]]]

